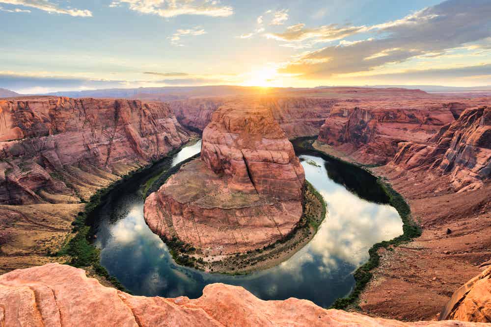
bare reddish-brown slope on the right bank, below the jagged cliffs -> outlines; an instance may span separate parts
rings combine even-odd
[[[313,146],[336,156],[329,146],[318,142]],[[491,235],[491,225],[486,223],[491,221],[491,187],[458,195],[436,192],[448,189],[445,176],[359,166],[405,199],[422,230],[402,245],[379,248],[369,281],[354,305],[347,307],[403,321],[435,319],[453,292],[479,274],[479,265],[491,258],[491,239],[486,237]]]

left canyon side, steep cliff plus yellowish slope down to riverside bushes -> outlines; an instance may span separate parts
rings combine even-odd
[[[53,260],[82,202],[190,137],[163,103],[0,99],[0,271]]]

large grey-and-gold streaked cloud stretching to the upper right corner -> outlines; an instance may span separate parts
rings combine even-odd
[[[447,0],[400,20],[373,26],[327,25],[305,28],[290,26],[285,33],[270,38],[298,42],[332,41],[360,32],[375,32],[378,38],[341,42],[310,51],[294,59],[281,70],[307,78],[326,78],[334,74],[374,70],[388,63],[413,57],[439,55],[491,36],[491,2],[488,0]]]

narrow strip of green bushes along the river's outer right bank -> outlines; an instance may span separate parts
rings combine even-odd
[[[301,146],[305,149],[308,149],[310,151],[314,151],[319,153],[320,155],[325,156],[327,159],[330,160],[338,160],[343,162],[346,165],[351,165],[353,167],[356,167],[358,169],[363,169],[367,172],[370,172],[367,169],[366,165],[358,165],[354,164],[339,158],[336,158],[332,155],[329,155],[323,151],[319,151],[315,149],[312,146],[312,143],[315,141],[315,139],[312,138],[304,138],[299,140],[301,142]],[[383,177],[380,176],[375,176],[377,178],[377,183],[380,185],[382,188],[383,192],[388,198],[388,204],[393,206],[397,212],[399,213],[399,216],[401,217],[401,220],[403,222],[403,234],[393,238],[392,240],[389,241],[382,241],[380,243],[374,244],[370,250],[368,250],[369,254],[369,259],[368,261],[356,269],[354,273],[355,277],[355,287],[353,288],[352,292],[350,295],[346,298],[342,299],[337,299],[330,308],[333,309],[347,309],[348,307],[356,307],[357,302],[359,300],[359,296],[363,289],[366,287],[367,283],[372,279],[372,270],[377,268],[380,264],[380,255],[378,253],[379,249],[381,248],[389,248],[390,246],[398,246],[402,243],[407,243],[411,241],[412,239],[421,236],[421,227],[412,219],[411,217],[411,209],[409,207],[408,202],[404,200],[404,197],[399,194],[397,191],[395,191],[392,186],[385,181]]]

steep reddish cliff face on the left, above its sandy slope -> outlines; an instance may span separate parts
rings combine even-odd
[[[0,203],[46,202],[38,191],[75,196],[81,181],[79,193],[89,194],[105,186],[98,177],[117,178],[188,140],[189,132],[163,103],[0,100]]]

